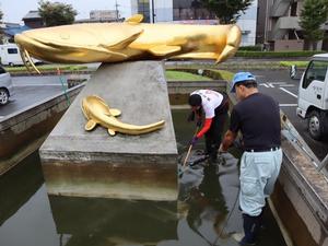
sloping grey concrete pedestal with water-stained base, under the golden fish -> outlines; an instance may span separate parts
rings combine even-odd
[[[86,132],[81,102],[98,95],[133,125],[165,120],[141,136]],[[176,200],[177,148],[159,61],[102,65],[39,150],[48,192],[78,197]]]

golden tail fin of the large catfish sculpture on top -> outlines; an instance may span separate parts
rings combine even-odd
[[[237,25],[232,25],[226,34],[226,45],[220,56],[216,59],[216,63],[220,63],[226,60],[230,57],[233,57],[241,44],[242,32]]]

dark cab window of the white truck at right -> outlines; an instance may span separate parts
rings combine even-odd
[[[305,72],[302,87],[306,89],[312,81],[320,81],[324,82],[327,73],[328,61],[312,61]]]

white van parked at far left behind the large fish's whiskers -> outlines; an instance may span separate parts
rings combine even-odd
[[[16,44],[0,45],[1,63],[4,66],[24,65],[20,55],[20,49]],[[33,59],[34,63],[39,62],[37,59]]]

